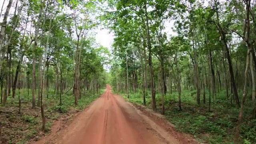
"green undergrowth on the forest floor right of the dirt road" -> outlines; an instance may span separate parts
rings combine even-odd
[[[146,106],[151,108],[151,94],[146,97]],[[239,92],[242,96],[242,92]],[[124,94],[124,97],[127,96]],[[142,92],[130,93],[129,101],[136,104],[143,104]],[[256,144],[256,119],[248,119],[252,113],[251,96],[244,105],[243,121],[240,127],[240,140],[244,144]],[[209,144],[233,144],[234,130],[237,126],[238,113],[240,108],[230,104],[226,99],[225,91],[216,95],[216,100],[211,104],[211,111],[208,111],[209,94],[206,92],[206,104],[196,104],[196,95],[183,90],[181,94],[182,110],[178,109],[178,94],[166,94],[165,96],[165,117],[175,129],[194,136],[198,141]],[[201,98],[202,99],[202,98]],[[241,100],[242,98],[240,98]],[[156,94],[157,111],[161,111],[161,95]],[[234,100],[233,100],[234,103]]]

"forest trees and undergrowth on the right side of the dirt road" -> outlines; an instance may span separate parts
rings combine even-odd
[[[214,144],[256,143],[251,0],[108,0],[111,86]]]

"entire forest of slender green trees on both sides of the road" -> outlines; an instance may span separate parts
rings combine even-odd
[[[198,142],[256,143],[256,0],[1,0],[0,8],[0,144],[40,140],[106,84]],[[101,28],[111,47],[98,42]]]

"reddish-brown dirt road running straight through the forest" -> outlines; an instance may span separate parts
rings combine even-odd
[[[146,113],[148,112],[148,113]],[[55,128],[57,128],[56,126]],[[111,92],[108,85],[65,128],[52,132],[34,144],[197,144],[190,136],[150,110],[138,110]]]

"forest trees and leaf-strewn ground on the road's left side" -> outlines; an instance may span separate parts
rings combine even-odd
[[[0,144],[23,144],[102,94],[110,53],[95,39],[98,1],[0,3]]]

